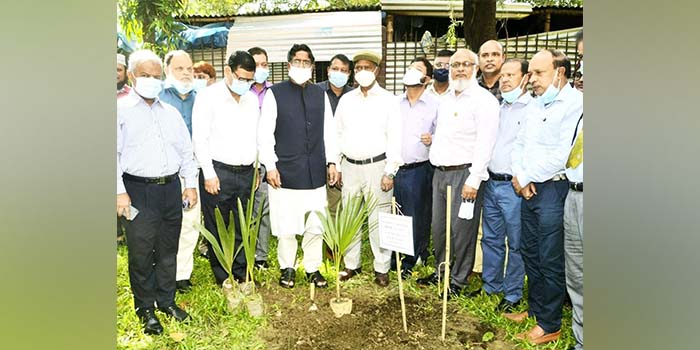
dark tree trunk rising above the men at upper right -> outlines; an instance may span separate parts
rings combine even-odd
[[[487,40],[496,39],[496,0],[463,0],[464,39],[477,52]]]

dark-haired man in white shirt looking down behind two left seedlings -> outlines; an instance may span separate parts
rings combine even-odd
[[[243,208],[250,198],[257,156],[257,128],[260,116],[258,100],[249,93],[255,74],[255,60],[245,51],[236,51],[224,67],[224,79],[201,90],[192,111],[192,142],[199,166],[199,193],[202,198],[204,226],[219,240],[215,208],[221,210],[226,226],[234,213],[235,246],[241,247],[238,199]],[[207,242],[212,252],[211,243]],[[215,254],[208,254],[209,264],[221,285],[228,273]],[[246,260],[236,255],[233,277],[245,280]]]

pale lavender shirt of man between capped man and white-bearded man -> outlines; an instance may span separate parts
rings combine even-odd
[[[437,123],[438,100],[426,91],[411,106],[406,93],[399,96],[399,107],[403,121],[401,156],[405,164],[428,160],[430,146],[421,142],[420,135],[434,134]]]

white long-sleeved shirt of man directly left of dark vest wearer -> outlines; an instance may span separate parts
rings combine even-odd
[[[192,142],[205,179],[216,177],[212,160],[228,165],[255,163],[259,117],[257,96],[248,92],[236,102],[226,81],[197,94],[192,107]]]

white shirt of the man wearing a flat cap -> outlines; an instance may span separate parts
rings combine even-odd
[[[354,89],[340,98],[335,121],[345,157],[363,160],[386,153],[384,172],[396,174],[403,164],[399,97],[376,82],[367,96],[361,88]]]

